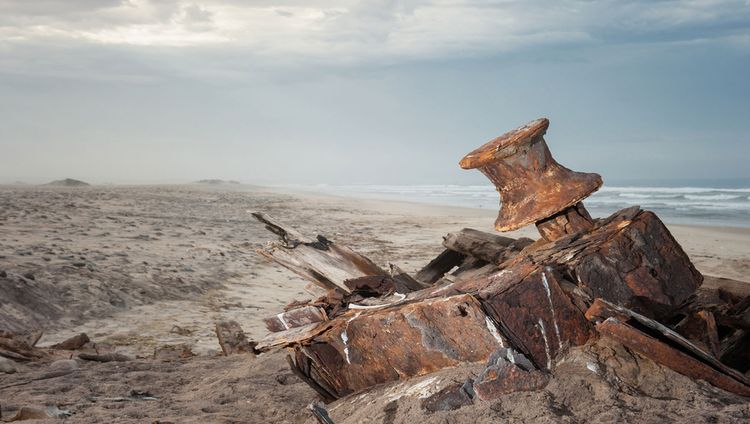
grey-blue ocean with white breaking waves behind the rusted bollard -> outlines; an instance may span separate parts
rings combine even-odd
[[[750,181],[690,181],[691,184],[653,186],[605,185],[584,203],[594,217],[605,217],[640,205],[667,223],[750,228]],[[315,185],[306,190],[386,200],[497,210],[495,188],[483,185]]]

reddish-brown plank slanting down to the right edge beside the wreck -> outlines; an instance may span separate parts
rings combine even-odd
[[[680,374],[690,378],[705,380],[716,387],[741,396],[750,396],[750,386],[726,373],[718,371],[687,353],[672,348],[668,344],[662,343],[620,322],[617,318],[607,318],[605,321],[597,324],[596,329],[603,336],[622,343],[628,348]]]

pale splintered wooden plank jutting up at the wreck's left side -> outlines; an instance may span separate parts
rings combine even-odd
[[[321,287],[349,293],[344,284],[346,280],[388,275],[370,259],[347,246],[320,235],[310,239],[261,212],[254,212],[253,216],[280,238],[279,242],[271,242],[257,252]]]

